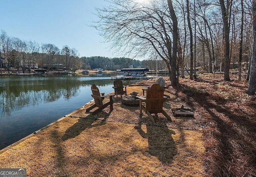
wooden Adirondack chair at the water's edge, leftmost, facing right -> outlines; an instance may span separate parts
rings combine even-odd
[[[94,114],[102,111],[102,109],[104,109],[108,105],[110,105],[110,111],[113,110],[113,95],[114,94],[104,95],[104,93],[100,93],[99,89],[96,87],[95,84],[92,84],[91,90],[92,90],[92,97],[94,98],[95,103],[94,103],[94,105],[88,107],[86,109],[86,112],[90,111],[94,107],[98,107],[98,109],[96,109],[95,111],[92,112],[92,115],[94,115]],[[109,99],[107,99],[106,97],[109,97]],[[106,98],[106,99],[104,99],[104,98]]]

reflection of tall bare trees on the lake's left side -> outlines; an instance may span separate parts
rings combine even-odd
[[[60,97],[69,99],[77,95],[81,82],[63,79],[15,80],[4,82],[0,87],[3,106],[1,114],[19,110],[25,106],[39,105],[58,100]]]

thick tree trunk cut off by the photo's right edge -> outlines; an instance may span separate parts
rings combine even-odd
[[[248,94],[254,95],[256,92],[256,0],[252,0],[252,23],[253,23],[253,49],[250,70]]]

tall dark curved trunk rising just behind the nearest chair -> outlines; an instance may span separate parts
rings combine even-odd
[[[178,51],[178,21],[175,14],[175,11],[172,6],[172,0],[167,0],[168,7],[170,10],[170,15],[172,18],[172,26],[173,26],[173,47],[172,47],[172,60],[171,60],[171,85],[172,87],[177,86],[177,78],[176,78],[176,62],[177,62],[177,51]]]

